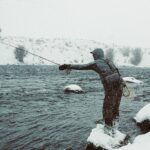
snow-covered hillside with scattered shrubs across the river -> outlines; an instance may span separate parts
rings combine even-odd
[[[101,42],[83,39],[31,39],[21,37],[0,38],[0,64],[19,64],[14,55],[14,46],[22,45],[26,50],[50,59],[59,64],[88,63],[93,60],[90,52],[95,48],[103,48],[106,57],[110,57],[118,66],[150,67],[150,49],[120,47]],[[51,64],[28,54],[25,64]]]

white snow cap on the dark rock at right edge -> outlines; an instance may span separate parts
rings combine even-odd
[[[150,120],[150,104],[144,106],[134,117],[137,123],[141,123],[144,120]]]

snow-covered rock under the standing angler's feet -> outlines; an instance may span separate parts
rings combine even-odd
[[[92,129],[87,142],[89,143],[89,145],[93,144],[96,148],[100,147],[109,150],[114,147],[120,146],[125,138],[126,135],[118,130],[116,130],[114,137],[109,136],[104,132],[104,125],[98,124],[96,128]]]

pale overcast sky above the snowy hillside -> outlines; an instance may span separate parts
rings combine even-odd
[[[150,47],[150,0],[0,0],[1,35]]]

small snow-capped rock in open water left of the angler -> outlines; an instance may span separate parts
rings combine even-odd
[[[64,87],[64,92],[65,93],[83,93],[83,90],[80,86],[76,85],[76,84],[71,84],[68,86]]]

